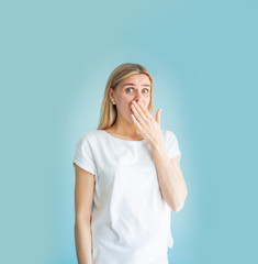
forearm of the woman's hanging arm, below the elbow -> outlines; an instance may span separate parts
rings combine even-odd
[[[78,264],[92,264],[92,235],[90,221],[76,221],[75,239]]]

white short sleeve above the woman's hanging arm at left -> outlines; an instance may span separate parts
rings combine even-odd
[[[72,165],[74,163],[85,170],[96,175],[96,163],[89,139],[87,139],[87,134],[80,136],[79,141],[77,142]]]

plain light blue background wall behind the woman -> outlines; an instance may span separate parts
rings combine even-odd
[[[154,77],[189,195],[172,264],[257,262],[258,4],[1,1],[0,262],[76,262],[71,160],[122,63]]]

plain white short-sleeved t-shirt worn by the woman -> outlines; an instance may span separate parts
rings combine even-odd
[[[181,155],[172,132],[161,130],[161,136],[170,158]],[[74,163],[96,178],[93,264],[167,264],[168,246],[173,245],[171,211],[147,141],[90,131],[80,136]]]

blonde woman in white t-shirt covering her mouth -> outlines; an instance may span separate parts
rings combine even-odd
[[[167,264],[170,210],[187,198],[178,141],[153,118],[153,78],[138,64],[108,79],[97,130],[82,134],[76,169],[79,264]]]

